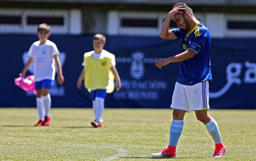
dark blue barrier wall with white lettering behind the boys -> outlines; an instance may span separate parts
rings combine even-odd
[[[35,107],[33,93],[14,85],[37,36],[1,35],[0,107]],[[89,93],[76,88],[83,53],[93,50],[92,36],[50,36],[63,65],[65,83],[55,82],[52,107],[92,107]],[[156,68],[159,58],[182,51],[181,41],[159,37],[107,36],[105,49],[116,55],[122,90],[106,97],[106,107],[169,108],[181,63]],[[212,39],[211,108],[256,108],[256,39]],[[27,75],[32,74],[32,68]]]

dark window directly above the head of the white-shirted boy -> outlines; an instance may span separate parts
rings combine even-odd
[[[45,17],[45,16],[28,16],[28,25],[39,25],[47,23],[49,25],[64,25],[64,17]]]

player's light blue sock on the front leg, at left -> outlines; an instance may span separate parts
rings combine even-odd
[[[173,122],[171,123],[169,141],[170,146],[177,146],[180,135],[182,133],[183,124],[183,120],[173,120]]]

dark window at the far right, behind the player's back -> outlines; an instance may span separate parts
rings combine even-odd
[[[228,29],[256,30],[256,21],[228,21]]]

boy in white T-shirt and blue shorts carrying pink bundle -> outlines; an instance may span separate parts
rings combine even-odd
[[[40,24],[37,29],[39,41],[34,42],[29,48],[29,59],[22,70],[22,77],[25,77],[29,66],[34,62],[36,107],[38,110],[39,121],[35,126],[48,126],[51,123],[50,108],[51,97],[50,88],[55,79],[55,62],[58,69],[57,81],[60,85],[64,82],[62,75],[59,50],[54,42],[48,40],[50,36],[50,26]]]

